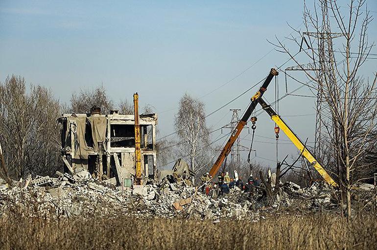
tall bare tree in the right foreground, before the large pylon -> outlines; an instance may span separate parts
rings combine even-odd
[[[297,59],[298,53],[279,39],[276,45],[305,72],[318,89],[319,101],[326,104],[322,109],[329,117],[320,119],[325,138],[318,143],[328,144],[326,155],[331,155],[330,164],[336,167],[332,172],[346,196],[349,221],[351,187],[357,173],[367,167],[363,158],[377,139],[371,133],[376,130],[377,75],[370,82],[359,74],[374,46],[367,32],[372,18],[365,0],[350,0],[345,12],[336,0],[320,0],[313,10],[304,4],[303,18],[305,31],[295,30],[288,39],[300,46],[300,59],[306,59]],[[338,46],[332,41],[335,37]]]

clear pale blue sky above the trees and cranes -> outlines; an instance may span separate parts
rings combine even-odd
[[[375,0],[368,4],[377,11]],[[0,81],[11,74],[24,76],[29,83],[50,87],[62,102],[69,102],[72,92],[80,88],[102,83],[115,101],[132,100],[137,91],[141,105],[151,104],[159,113],[163,136],[173,130],[174,108],[185,92],[202,97],[233,79],[273,49],[267,39],[274,41],[275,35],[283,38],[291,32],[287,22],[299,26],[302,10],[300,0],[0,0]],[[374,21],[370,40],[376,41],[376,30]],[[272,51],[234,81],[202,98],[207,113],[286,59]],[[365,72],[376,71],[376,62],[368,62]],[[283,76],[279,83],[283,94]],[[288,90],[297,86],[288,82]],[[211,116],[209,125],[214,129],[225,125],[231,118],[229,108],[244,110],[256,90]],[[298,93],[311,94],[307,89]],[[274,101],[273,88],[265,96]],[[285,98],[280,113],[302,139],[314,140],[314,99]],[[261,115],[257,135],[270,139],[256,137],[253,146],[259,157],[272,161],[256,160],[270,165],[275,159],[273,127]],[[218,135],[213,133],[212,139]],[[243,137],[251,139],[247,133]],[[285,136],[281,139],[281,157],[286,153],[295,157],[294,146],[283,141]],[[242,144],[250,146],[246,140]]]

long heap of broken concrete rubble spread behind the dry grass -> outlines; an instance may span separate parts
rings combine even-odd
[[[27,179],[26,179],[27,180]],[[12,188],[0,182],[0,214],[15,209],[24,215],[52,218],[82,216],[90,219],[94,215],[116,217],[126,214],[140,218],[162,217],[182,219],[209,219],[217,223],[223,218],[257,221],[261,212],[282,209],[340,210],[331,187],[313,184],[301,188],[286,182],[272,201],[267,201],[262,188],[255,193],[239,188],[230,193],[212,198],[198,187],[162,182],[133,188],[117,188],[111,179],[100,181],[81,171],[73,177],[58,174],[58,178],[37,176],[14,182]],[[26,184],[28,183],[28,184]],[[374,186],[360,185],[357,199],[371,199]],[[48,216],[47,216],[48,215]]]

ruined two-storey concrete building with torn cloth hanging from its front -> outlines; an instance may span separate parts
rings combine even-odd
[[[157,114],[141,114],[138,117],[141,175],[154,178]],[[99,179],[112,179],[124,187],[132,185],[136,175],[133,114],[119,114],[112,110],[103,115],[100,108],[93,107],[87,114],[63,114],[58,122],[62,125],[65,172],[85,169]]]

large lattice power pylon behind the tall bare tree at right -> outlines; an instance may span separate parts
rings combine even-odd
[[[316,103],[316,122],[315,122],[315,140],[314,140],[314,154],[320,155],[321,153],[321,128],[322,128],[322,113],[323,113],[323,83],[325,80],[324,71],[330,70],[334,66],[334,55],[332,49],[332,39],[343,36],[342,33],[334,33],[330,30],[330,21],[328,16],[327,0],[322,1],[322,27],[321,32],[303,32],[302,42],[300,50],[302,49],[303,42],[310,48],[306,41],[305,36],[317,39],[318,49],[318,62],[301,64],[293,67],[288,67],[285,70],[301,70],[301,71],[318,71],[318,91],[317,91],[317,103]],[[329,67],[329,65],[331,65]]]

